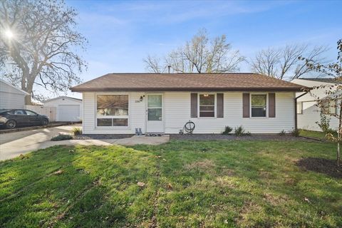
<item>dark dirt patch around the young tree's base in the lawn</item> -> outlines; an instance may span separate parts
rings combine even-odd
[[[304,157],[296,163],[303,170],[319,172],[335,178],[342,178],[342,165],[338,167],[336,160],[328,160],[320,157]]]

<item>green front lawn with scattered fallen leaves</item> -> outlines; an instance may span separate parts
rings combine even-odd
[[[333,159],[335,149],[300,141],[50,147],[0,162],[0,227],[342,227],[342,180],[296,165]]]

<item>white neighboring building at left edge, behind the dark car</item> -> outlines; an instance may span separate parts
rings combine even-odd
[[[0,109],[25,108],[25,96],[29,95],[24,90],[12,86],[0,79]]]

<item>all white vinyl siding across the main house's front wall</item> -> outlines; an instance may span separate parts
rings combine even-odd
[[[95,94],[83,93],[83,133],[134,134],[135,128],[142,128],[142,132],[145,132],[146,97],[142,102],[138,101],[145,93],[125,93],[130,95],[130,126],[125,130],[96,128]],[[242,92],[224,93],[224,118],[190,118],[190,92],[165,92],[163,95],[165,133],[168,134],[179,133],[189,120],[195,123],[194,133],[197,134],[221,133],[227,125],[232,128],[242,125],[251,133],[280,133],[281,130],[290,131],[294,128],[295,111],[292,92],[276,93],[276,118],[242,118]]]

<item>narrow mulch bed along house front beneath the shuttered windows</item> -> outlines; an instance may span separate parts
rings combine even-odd
[[[314,141],[308,138],[294,137],[292,135],[252,134],[244,136],[220,135],[220,134],[192,134],[170,135],[170,140],[278,140],[278,141]]]

